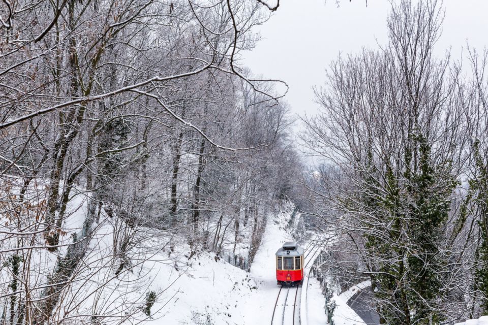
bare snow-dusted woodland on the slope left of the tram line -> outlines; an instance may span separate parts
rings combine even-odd
[[[270,9],[2,2],[0,323],[147,318],[158,293],[89,302],[144,284],[117,280],[176,237],[249,264],[301,170],[276,82],[237,62]]]

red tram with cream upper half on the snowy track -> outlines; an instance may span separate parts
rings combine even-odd
[[[304,249],[295,242],[286,242],[276,252],[276,280],[278,284],[303,283]]]

